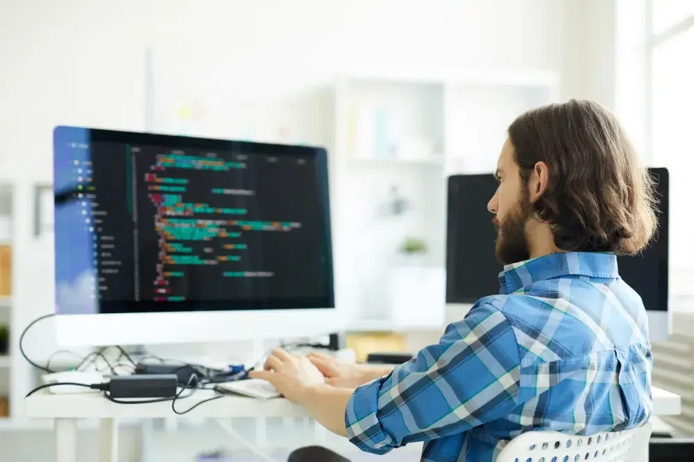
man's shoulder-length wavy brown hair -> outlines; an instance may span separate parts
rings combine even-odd
[[[532,206],[559,249],[633,255],[648,245],[657,227],[653,181],[611,112],[569,100],[522,114],[508,132],[523,185],[536,163],[549,167],[549,186]]]

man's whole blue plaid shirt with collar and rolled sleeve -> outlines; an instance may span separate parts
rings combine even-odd
[[[616,257],[559,253],[507,265],[439,344],[355,390],[360,449],[425,441],[423,461],[493,461],[534,429],[589,435],[645,423],[652,357],[641,298]]]

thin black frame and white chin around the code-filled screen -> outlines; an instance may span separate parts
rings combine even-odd
[[[56,301],[56,333],[58,342],[64,345],[110,345],[110,344],[149,344],[168,341],[214,341],[239,338],[277,338],[287,335],[307,335],[332,332],[337,328],[335,307],[335,268],[332,250],[332,229],[330,220],[330,190],[328,186],[328,151],[312,145],[284,145],[276,143],[257,143],[254,141],[208,139],[193,136],[172,134],[155,134],[144,132],[126,132],[103,130],[90,127],[73,127],[60,125],[53,131],[54,165],[62,161],[62,150],[56,143],[65,139],[85,139],[90,142],[131,143],[142,145],[171,146],[180,149],[203,150],[236,150],[262,152],[282,156],[313,156],[316,159],[316,171],[319,177],[319,197],[325,224],[325,271],[326,293],[319,304],[312,308],[298,307],[291,300],[287,303],[274,303],[270,308],[235,308],[234,310],[161,310],[157,312],[133,312],[115,314],[61,314]],[[65,191],[55,191],[56,197]],[[59,232],[56,230],[56,233]],[[55,245],[55,244],[54,244]],[[55,280],[57,280],[56,275]],[[178,302],[158,302],[178,303]],[[204,302],[201,302],[204,303]],[[180,307],[179,307],[180,308]],[[273,326],[269,326],[273,319]],[[117,326],[114,325],[117,324]],[[168,326],[169,332],[144,332],[133,326],[156,323]],[[230,324],[234,326],[230,330]],[[121,332],[118,331],[121,326]],[[199,333],[187,335],[191,328],[199,326]],[[219,329],[215,328],[219,327]],[[149,326],[151,327],[151,326]],[[114,329],[115,328],[115,329]],[[145,329],[147,330],[147,329]],[[89,332],[87,332],[89,331]],[[261,332],[262,331],[262,332]],[[204,338],[202,338],[204,337]]]

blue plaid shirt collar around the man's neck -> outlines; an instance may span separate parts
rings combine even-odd
[[[499,284],[502,294],[511,294],[536,282],[568,275],[616,279],[617,257],[603,252],[557,252],[505,265]]]

